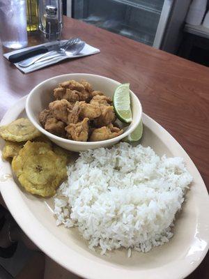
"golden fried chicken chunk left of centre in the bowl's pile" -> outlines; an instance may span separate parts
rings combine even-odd
[[[54,102],[49,103],[49,111],[52,115],[65,123],[68,123],[69,110],[72,110],[72,105],[68,100],[54,100]]]

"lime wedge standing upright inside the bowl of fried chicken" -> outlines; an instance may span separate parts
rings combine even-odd
[[[116,116],[118,117],[118,119],[125,123],[130,123],[132,121],[129,86],[129,83],[119,85],[116,88],[113,98],[113,105]]]

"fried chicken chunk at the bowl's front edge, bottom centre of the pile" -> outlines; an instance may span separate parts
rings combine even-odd
[[[84,118],[81,122],[71,123],[65,127],[68,138],[78,142],[86,142],[88,140],[88,121],[88,118]]]

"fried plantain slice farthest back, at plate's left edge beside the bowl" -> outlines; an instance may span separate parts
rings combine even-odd
[[[20,118],[6,126],[1,126],[0,135],[3,140],[24,142],[38,137],[40,132],[33,126],[29,119]]]

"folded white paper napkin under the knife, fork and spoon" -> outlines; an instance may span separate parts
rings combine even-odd
[[[62,42],[63,42],[63,40],[62,40]],[[52,43],[44,43],[42,45],[45,45],[47,47],[49,45],[52,45]],[[39,45],[39,46],[42,46],[42,45]],[[34,46],[34,47],[37,47],[37,45]],[[25,47],[24,50],[32,50],[34,47]],[[13,52],[8,52],[6,54],[3,54],[3,56],[6,59],[8,59],[8,57],[10,55],[16,54],[16,53],[22,52],[22,51],[23,51],[23,49],[22,50],[15,50]],[[18,65],[18,63],[14,63],[14,65],[19,70],[21,70],[23,73],[27,74],[27,73],[33,72],[34,70],[38,70],[40,68],[44,68],[44,67],[52,65],[52,64],[56,64],[59,61],[62,61],[62,60],[65,60],[65,59],[71,59],[71,58],[74,59],[74,58],[77,58],[77,57],[88,56],[88,55],[96,54],[96,53],[99,53],[99,52],[100,52],[100,50],[98,48],[92,47],[91,45],[88,45],[88,44],[85,43],[83,50],[81,52],[79,52],[79,54],[74,55],[72,57],[65,57],[65,56],[55,57],[54,59],[50,59],[50,60],[47,60],[47,61],[42,61],[42,62],[39,62],[39,63],[34,63],[33,65],[31,65],[29,67],[26,67],[26,68],[20,67]]]

